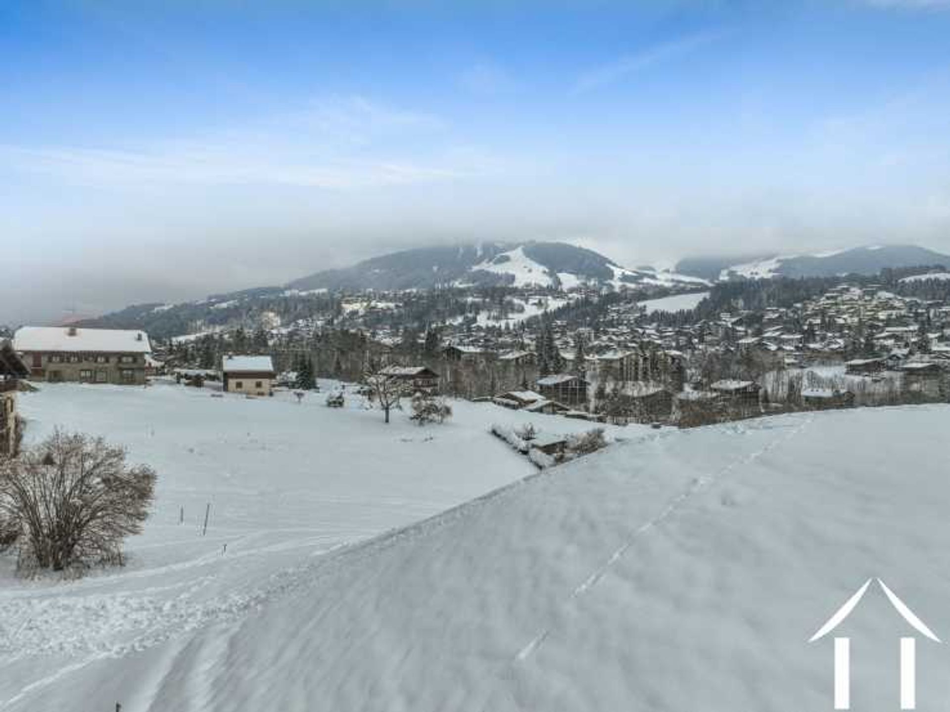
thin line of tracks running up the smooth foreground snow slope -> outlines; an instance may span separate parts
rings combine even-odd
[[[760,450],[750,452],[749,454],[744,455],[742,457],[737,457],[734,460],[732,460],[728,465],[724,466],[718,471],[713,472],[712,474],[695,478],[693,482],[690,484],[690,486],[686,490],[677,494],[667,504],[667,506],[663,510],[661,510],[659,514],[656,515],[656,517],[648,520],[644,524],[641,524],[639,527],[637,527],[637,529],[634,529],[631,532],[630,536],[618,548],[616,548],[608,557],[606,557],[603,564],[601,564],[598,568],[595,568],[590,573],[590,575],[587,576],[586,579],[584,579],[583,582],[581,582],[577,587],[575,587],[570,592],[569,595],[565,597],[564,602],[563,602],[564,606],[570,606],[572,603],[581,599],[591,589],[596,587],[598,583],[603,579],[603,577],[607,573],[609,573],[611,568],[614,568],[618,564],[618,562],[623,558],[624,554],[626,554],[626,552],[634,546],[634,544],[636,543],[637,539],[640,536],[642,536],[643,534],[646,534],[650,530],[655,529],[656,527],[661,525],[664,521],[666,521],[671,516],[673,516],[676,513],[676,511],[680,510],[684,504],[686,504],[688,501],[693,499],[693,497],[695,497],[701,491],[705,491],[711,485],[721,481],[726,476],[728,476],[732,471],[735,471],[738,468],[749,465],[750,463],[754,462],[762,455],[773,450],[775,447],[782,445],[784,443],[787,443],[788,441],[792,440],[794,437],[798,436],[807,428],[808,424],[811,423],[812,419],[813,419],[812,417],[805,418],[797,427],[791,428],[790,431],[784,437],[780,435],[773,438],[772,440],[769,441],[769,443],[765,445],[765,447],[761,448]],[[766,422],[765,424],[757,424],[757,427],[753,426],[753,429],[754,430],[768,430],[769,427],[774,427],[774,426],[769,426],[768,422]],[[746,432],[746,429],[740,424],[740,425],[737,425],[736,432],[744,433]],[[656,435],[652,439],[654,442],[658,442],[660,438],[667,437],[667,436],[669,435]],[[581,614],[582,614],[582,611],[575,608],[574,610],[571,611],[570,618],[573,620],[577,618],[578,616],[580,616]],[[509,660],[507,660],[504,663],[504,667],[496,675],[494,683],[488,688],[487,698],[485,700],[485,703],[481,707],[483,712],[494,712],[495,710],[497,710],[497,707],[493,706],[493,702],[495,702],[495,699],[497,695],[499,694],[500,690],[503,689],[502,687],[500,687],[500,683],[502,683],[505,680],[510,680],[515,674],[515,672],[517,671],[517,665],[523,664],[525,661],[529,660],[532,656],[534,656],[534,654],[537,653],[539,649],[541,649],[542,645],[544,645],[544,642],[550,638],[550,636],[552,635],[552,632],[553,632],[553,626],[543,627],[541,630],[538,631],[538,633],[533,638],[531,638],[531,640],[527,642],[527,644],[523,645],[523,647],[517,653],[515,653],[514,656],[512,656]],[[509,696],[509,699],[510,699],[510,695],[512,693],[511,688],[508,686],[505,686],[504,691]],[[514,699],[511,699],[511,702],[515,702],[516,707],[518,706],[517,702]]]

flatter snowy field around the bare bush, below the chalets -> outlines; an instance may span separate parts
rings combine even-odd
[[[488,434],[492,422],[562,434],[592,427],[464,401],[452,403],[455,416],[441,426],[420,428],[398,412],[387,426],[355,394],[347,408],[327,408],[334,385],[323,382],[324,393],[302,404],[288,393],[247,399],[169,383],[44,384],[21,394],[28,441],[56,426],[102,434],[126,446],[132,462],[155,467],[159,482],[125,568],[78,582],[24,581],[14,559],[0,557],[0,709],[37,709],[44,690],[57,694],[96,661],[234,624],[286,593],[295,569],[314,557],[535,472]]]

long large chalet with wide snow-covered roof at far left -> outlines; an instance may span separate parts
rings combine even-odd
[[[37,380],[142,385],[152,347],[137,330],[24,326],[13,336],[13,350]]]

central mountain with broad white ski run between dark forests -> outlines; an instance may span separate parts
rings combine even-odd
[[[651,267],[627,269],[593,250],[564,242],[421,247],[363,260],[352,267],[296,279],[288,289],[390,291],[438,286],[542,286],[582,283],[616,288],[702,284],[703,279]]]

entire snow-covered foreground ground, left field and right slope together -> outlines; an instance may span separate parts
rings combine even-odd
[[[163,472],[169,501],[129,569],[76,583],[5,582],[0,708],[827,710],[832,642],[807,640],[875,576],[950,636],[945,405],[628,429],[629,441],[604,452],[327,552],[373,523],[418,519],[525,474],[506,446],[460,424],[498,419],[500,409],[460,404],[460,422],[444,433],[399,418],[386,431],[381,421],[371,428],[375,413],[311,415],[305,405],[289,418],[276,415],[296,408],[287,402],[113,391],[89,394],[86,407],[111,404],[103,427],[127,433],[142,459],[181,470]],[[128,403],[145,394],[154,400],[132,412]],[[51,414],[88,424],[83,400],[50,389],[25,410],[44,424]],[[151,433],[192,405],[208,422],[180,417],[167,425],[177,437]],[[261,415],[270,409],[273,421]],[[263,422],[272,424],[251,428]],[[265,485],[250,465],[241,471],[243,458],[258,468],[289,461],[301,446],[286,433],[317,425],[309,468],[265,469]],[[218,453],[250,444],[216,467],[199,454],[216,442],[209,432],[223,433]],[[359,445],[347,451],[347,440]],[[443,471],[398,464],[404,445]],[[352,467],[340,465],[344,454]],[[486,480],[494,467],[505,474]],[[359,502],[336,482],[350,472]],[[400,475],[419,489],[397,484]],[[313,486],[299,482],[308,476]],[[285,485],[295,488],[286,497]],[[195,521],[175,521],[192,487],[189,507],[216,494],[223,510],[206,540]],[[218,507],[225,489],[230,509]],[[338,513],[341,530],[331,530],[305,504],[331,512],[317,518],[328,521],[350,508],[358,524]],[[839,631],[853,639],[854,709],[898,708],[898,639],[913,632],[880,590],[868,592]],[[947,645],[921,639],[919,709],[942,708],[948,671]]]

